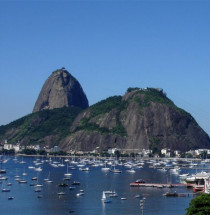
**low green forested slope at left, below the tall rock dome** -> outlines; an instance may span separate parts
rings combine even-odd
[[[64,107],[29,114],[0,126],[0,139],[24,145],[58,145],[69,134],[70,126],[80,112],[80,108]]]

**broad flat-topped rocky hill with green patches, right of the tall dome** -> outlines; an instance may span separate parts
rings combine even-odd
[[[79,114],[61,146],[186,151],[209,148],[210,139],[161,89],[129,88],[124,96],[107,98]]]

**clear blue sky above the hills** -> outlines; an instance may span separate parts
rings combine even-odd
[[[161,87],[210,134],[210,1],[0,0],[0,125],[65,67],[90,105]]]

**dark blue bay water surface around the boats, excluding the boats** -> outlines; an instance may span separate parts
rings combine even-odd
[[[66,162],[59,158],[56,160],[64,163],[65,167],[53,167],[45,159],[41,165],[42,171],[37,172],[34,169],[29,169],[28,166],[35,166],[33,157],[18,157],[18,161],[14,161],[10,157],[7,163],[4,163],[2,168],[7,170],[4,176],[8,179],[3,181],[0,186],[2,188],[10,188],[11,191],[0,192],[0,214],[7,215],[65,215],[69,212],[77,215],[135,215],[142,214],[140,209],[140,200],[145,197],[144,214],[146,215],[177,215],[185,214],[185,208],[188,207],[189,202],[193,198],[192,190],[187,190],[185,187],[179,188],[135,188],[130,187],[129,183],[142,178],[148,182],[179,183],[178,175],[171,174],[169,171],[161,172],[157,169],[148,168],[148,165],[141,169],[136,169],[134,174],[128,173],[124,166],[117,166],[122,170],[120,174],[113,174],[111,172],[103,172],[101,167],[90,167],[90,171],[85,172],[79,170],[69,169],[72,173],[70,181],[65,181],[68,186],[72,186],[72,181],[79,181],[81,184],[76,186],[75,190],[70,190],[68,187],[61,188],[58,185],[63,182],[64,173],[67,172]],[[21,164],[24,160],[26,163]],[[69,164],[70,165],[70,164]],[[191,171],[193,170],[181,170]],[[27,175],[23,176],[25,172]],[[181,172],[181,173],[182,173]],[[15,180],[15,176],[21,176],[21,179],[27,181],[26,184],[19,184]],[[44,181],[50,175],[53,183],[46,183]],[[38,184],[43,184],[41,192],[35,192],[34,187],[30,186],[34,181],[32,177],[38,177]],[[11,182],[12,186],[8,187],[7,183]],[[84,190],[84,195],[77,197],[79,190]],[[118,197],[113,198],[109,204],[104,204],[101,201],[102,191],[113,190],[116,191]],[[58,192],[65,192],[65,195],[59,196]],[[167,191],[178,193],[190,193],[187,197],[164,197],[163,194]],[[141,198],[135,198],[140,195]],[[13,200],[8,200],[8,197],[13,196]],[[40,198],[38,198],[38,196]],[[125,197],[126,200],[121,200]]]

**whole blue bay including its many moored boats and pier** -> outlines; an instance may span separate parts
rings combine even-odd
[[[6,173],[0,176],[0,201],[2,213],[8,215],[14,211],[17,215],[26,215],[28,211],[31,215],[184,214],[191,199],[199,193],[193,190],[195,184],[184,180],[198,176],[202,167],[209,166],[208,161],[196,161],[199,170],[194,170],[189,168],[189,160],[141,158],[2,156],[1,160],[4,159],[7,162],[2,162],[2,167]],[[178,169],[183,163],[186,168]],[[168,164],[170,168],[163,171]],[[104,170],[105,166],[108,169]],[[113,169],[120,174],[110,171]],[[23,207],[27,210],[23,211]]]

